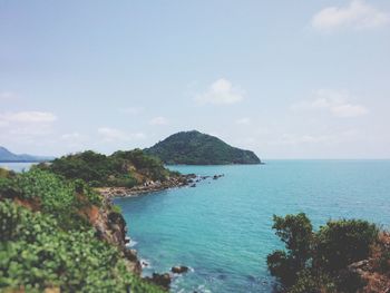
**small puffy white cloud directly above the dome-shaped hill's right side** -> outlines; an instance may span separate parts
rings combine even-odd
[[[242,99],[244,99],[244,91],[224,78],[214,81],[206,92],[195,95],[195,100],[201,104],[235,104]]]

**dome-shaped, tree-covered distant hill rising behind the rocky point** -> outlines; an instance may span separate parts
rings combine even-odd
[[[232,147],[215,136],[196,130],[174,134],[146,148],[145,153],[168,165],[261,164],[253,152]]]

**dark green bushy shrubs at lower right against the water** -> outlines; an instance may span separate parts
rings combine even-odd
[[[369,256],[378,227],[360,219],[329,221],[312,232],[303,214],[274,216],[273,228],[286,251],[267,256],[270,273],[292,293],[357,292],[364,285],[348,265]]]

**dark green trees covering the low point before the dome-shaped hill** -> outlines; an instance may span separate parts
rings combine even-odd
[[[116,152],[111,156],[87,150],[57,158],[50,165],[40,164],[38,168],[68,179],[82,179],[92,187],[133,187],[142,183],[137,177],[165,180],[173,175],[160,160],[145,155],[140,149]]]

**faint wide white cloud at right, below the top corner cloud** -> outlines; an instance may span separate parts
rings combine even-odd
[[[334,91],[320,89],[314,94],[314,99],[292,105],[293,110],[326,110],[337,117],[358,117],[369,113],[362,105],[353,105],[348,91]]]

